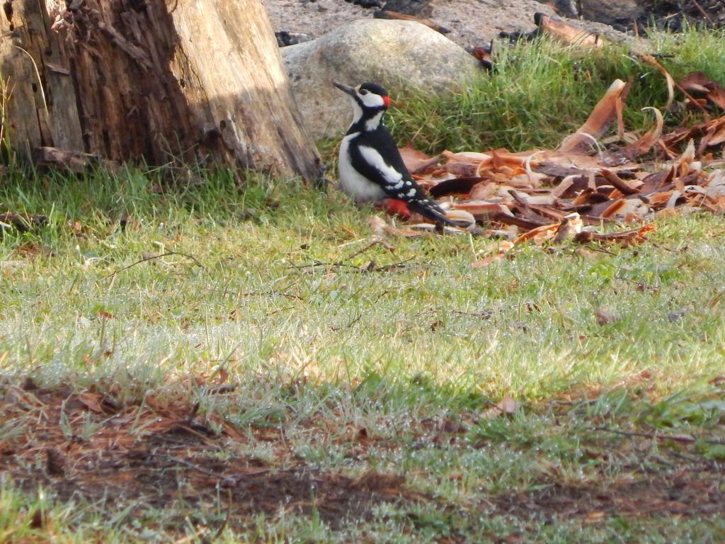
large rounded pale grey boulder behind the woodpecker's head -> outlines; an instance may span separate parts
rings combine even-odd
[[[349,125],[349,96],[333,81],[380,83],[392,98],[406,88],[443,94],[481,73],[479,61],[412,21],[359,20],[305,44],[280,49],[307,130],[315,139]]]

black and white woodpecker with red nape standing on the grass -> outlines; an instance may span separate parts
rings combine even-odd
[[[431,221],[457,225],[426,197],[405,168],[395,141],[382,123],[390,104],[387,91],[376,83],[355,88],[334,85],[352,97],[353,110],[352,125],[340,144],[340,189],[358,204],[393,199]]]

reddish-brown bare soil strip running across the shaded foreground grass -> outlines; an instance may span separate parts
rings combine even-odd
[[[222,387],[219,394],[233,394],[233,387]],[[132,517],[143,517],[147,508],[171,508],[173,522],[174,516],[181,520],[199,509],[213,511],[219,500],[228,509],[224,523],[233,527],[245,527],[254,514],[281,510],[316,511],[332,528],[348,519],[370,519],[373,506],[381,503],[435,502],[444,510],[461,511],[460,505],[442,504],[411,490],[400,474],[368,471],[351,477],[332,467],[311,466],[290,456],[281,431],[273,427],[249,429],[254,440],[268,442],[279,459],[262,462],[241,453],[241,446],[249,442],[246,429],[240,432],[215,417],[197,421],[196,408],[183,403],[146,397],[144,405],[121,407],[100,393],[78,395],[67,387],[41,390],[31,382],[30,387],[5,390],[0,421],[10,420],[22,426],[22,432],[0,442],[0,472],[9,474],[15,485],[28,493],[42,486],[63,501],[105,502],[117,509],[134,503],[128,513]],[[453,444],[463,432],[446,421],[421,423],[420,437],[431,447]],[[84,429],[92,432],[84,434]],[[352,440],[349,434],[341,440],[344,432],[311,422],[310,433],[347,445],[351,458],[364,458],[371,445],[378,451],[399,446],[372,440],[364,430]],[[653,473],[633,467],[628,478],[616,482],[584,487],[554,480],[531,493],[482,497],[471,514],[486,511],[552,521],[566,516],[584,522],[610,516],[723,516],[723,476],[720,463],[702,458],[681,468],[664,463],[662,471]],[[113,516],[113,508],[106,508]]]

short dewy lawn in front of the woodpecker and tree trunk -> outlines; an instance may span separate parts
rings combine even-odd
[[[4,186],[7,207],[47,213],[50,222],[36,234],[6,234],[0,246],[3,387],[32,376],[46,387],[112,391],[126,405],[150,394],[188,399],[200,403],[199,413],[240,429],[285,429],[283,453],[253,440],[217,455],[351,477],[394,471],[427,498],[381,504],[372,519],[343,529],[314,516],[257,514],[244,531],[225,529],[220,541],[349,542],[365,533],[373,541],[485,542],[521,532],[526,541],[624,535],[685,542],[722,535],[722,523],[708,517],[606,515],[589,523],[560,516],[550,524],[488,506],[552,485],[606,489],[674,474],[674,463],[694,471],[722,459],[721,447],[707,442],[724,437],[723,390],[708,384],[722,374],[725,353],[719,218],[660,222],[640,247],[584,254],[521,247],[510,260],[471,268],[495,242],[393,239],[394,254],[376,246],[350,259],[371,233],[364,215],[335,194],[265,180],[238,189],[223,175],[159,193],[157,181],[125,171]],[[204,268],[169,255],[124,269],[164,251],[193,255]],[[405,265],[368,273],[347,267],[370,261]],[[597,308],[616,321],[598,325]],[[233,394],[183,385],[221,364]],[[521,411],[485,419],[504,395]],[[569,397],[571,405],[552,400]],[[460,421],[460,429],[441,430],[445,421]],[[17,428],[1,423],[0,442],[17,440]],[[68,436],[86,440],[97,429],[70,425]],[[697,442],[637,440],[592,430],[598,426],[687,433]],[[349,433],[362,428],[373,443],[357,451]],[[616,456],[605,455],[610,450]],[[206,514],[180,514],[186,510],[177,505],[139,521],[124,514],[124,503],[76,498],[71,507],[54,500],[52,489],[21,493],[7,478],[2,493],[0,510],[15,514],[6,514],[0,534],[18,541],[210,537],[225,511],[220,497]],[[41,504],[48,513],[32,529]],[[186,516],[181,525],[179,516]]]

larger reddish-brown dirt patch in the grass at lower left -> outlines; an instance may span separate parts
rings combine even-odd
[[[142,406],[120,408],[94,392],[11,387],[0,420],[17,426],[0,441],[0,472],[28,493],[42,486],[62,501],[136,503],[130,516],[148,508],[188,513],[222,501],[233,526],[260,512],[317,511],[336,528],[347,519],[368,519],[376,504],[423,498],[397,475],[352,478],[304,463],[268,466],[239,453],[249,440],[233,426],[196,421],[194,413],[149,397]],[[276,441],[273,449],[284,455],[276,432],[251,430],[258,440]]]

